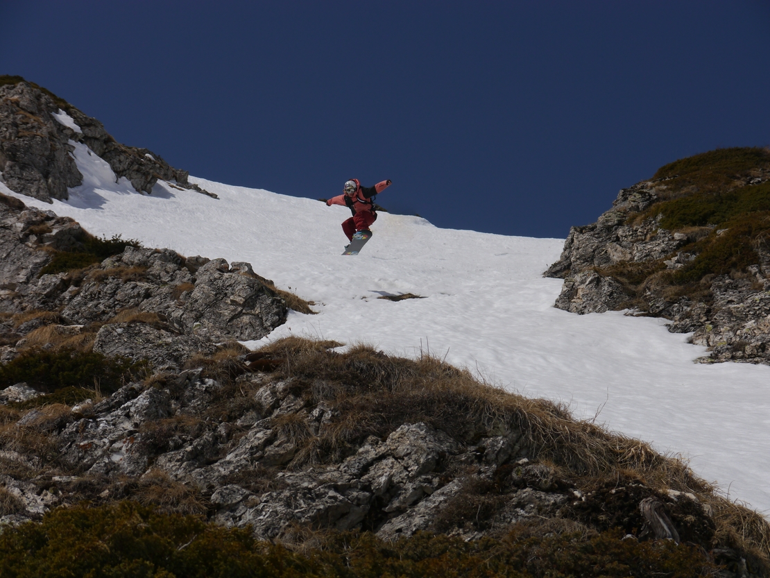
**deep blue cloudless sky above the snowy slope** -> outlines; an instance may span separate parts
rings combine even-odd
[[[770,145],[768,0],[0,2],[24,76],[192,175],[390,178],[438,227],[566,237],[621,187]]]

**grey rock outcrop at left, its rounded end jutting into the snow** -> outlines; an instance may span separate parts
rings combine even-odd
[[[26,346],[26,335],[54,318],[59,335],[78,334],[90,324],[89,331],[98,331],[95,351],[166,369],[213,353],[219,342],[263,338],[286,321],[285,301],[246,263],[230,267],[224,259],[185,259],[169,249],[129,246],[78,274],[40,275],[52,250],[82,247],[82,235],[72,219],[0,195],[4,361]],[[10,315],[25,312],[35,314],[14,328]]]

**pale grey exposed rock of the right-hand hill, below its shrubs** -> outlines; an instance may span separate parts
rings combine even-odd
[[[613,276],[613,267],[626,270],[660,263],[676,270],[693,260],[683,253],[693,235],[708,234],[708,227],[684,232],[660,227],[662,217],[628,224],[628,217],[643,213],[658,200],[665,182],[644,181],[621,190],[611,210],[596,223],[572,227],[561,258],[545,272],[564,279],[555,306],[573,313],[603,313],[630,309],[671,320],[670,331],[693,333],[692,342],[710,351],[701,361],[750,361],[770,363],[770,251],[755,247],[759,262],[749,275],[708,279],[703,301],[676,297],[648,282],[631,294]],[[713,228],[713,227],[712,227]],[[705,231],[704,231],[705,230]],[[717,231],[718,233],[718,231]]]

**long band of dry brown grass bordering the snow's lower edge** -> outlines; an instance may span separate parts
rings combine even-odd
[[[427,355],[393,358],[363,345],[329,351],[337,345],[286,338],[259,350],[280,361],[277,377],[293,379],[307,405],[325,402],[338,412],[317,437],[306,436],[295,461],[299,456],[308,462],[339,460],[367,435],[384,439],[404,423],[425,422],[467,444],[488,435],[521,435],[527,457],[550,463],[578,488],[634,479],[660,492],[694,494],[711,505],[719,531],[770,560],[768,522],[718,496],[680,459],[578,421],[564,405],[504,391]]]

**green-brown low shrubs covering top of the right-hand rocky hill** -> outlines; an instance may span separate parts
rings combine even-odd
[[[659,289],[670,287],[665,289],[669,297],[688,295],[698,301],[710,287],[708,282],[701,284],[703,279],[745,274],[747,267],[759,263],[758,248],[770,239],[770,182],[747,184],[767,170],[770,150],[758,147],[718,149],[662,166],[653,177],[668,179],[659,191],[661,200],[643,213],[629,215],[628,221],[659,217],[661,229],[688,234],[690,242],[677,252],[695,259],[665,274],[659,273],[671,256],[643,264],[615,264],[599,273],[616,279],[633,297],[648,289],[648,280],[655,275]],[[644,308],[637,301],[632,305]]]

